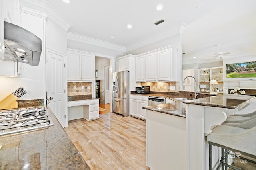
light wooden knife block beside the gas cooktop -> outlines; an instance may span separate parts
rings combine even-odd
[[[19,104],[17,100],[18,100],[18,97],[14,96],[13,94],[9,94],[8,96],[6,96],[4,99],[0,101],[0,110],[18,108]]]

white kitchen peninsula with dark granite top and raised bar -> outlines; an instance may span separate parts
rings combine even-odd
[[[147,110],[146,165],[152,169],[207,169],[205,135],[252,98],[255,97],[223,94],[184,100],[186,115],[177,107],[179,102],[143,107]],[[218,156],[214,161],[219,161]]]

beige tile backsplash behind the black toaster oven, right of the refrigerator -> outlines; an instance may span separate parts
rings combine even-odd
[[[180,90],[179,82],[142,82],[141,86],[150,86],[152,92],[179,92]],[[170,86],[175,86],[175,90],[170,90]]]

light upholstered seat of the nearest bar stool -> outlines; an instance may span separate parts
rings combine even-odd
[[[219,125],[207,135],[207,141],[256,155],[256,127],[244,129]]]

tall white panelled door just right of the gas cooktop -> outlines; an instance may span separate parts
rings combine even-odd
[[[62,127],[68,126],[67,95],[65,93],[66,69],[64,57],[48,51],[46,62],[46,92],[47,98],[52,98],[48,107],[52,110]],[[46,101],[47,102],[47,101]]]

